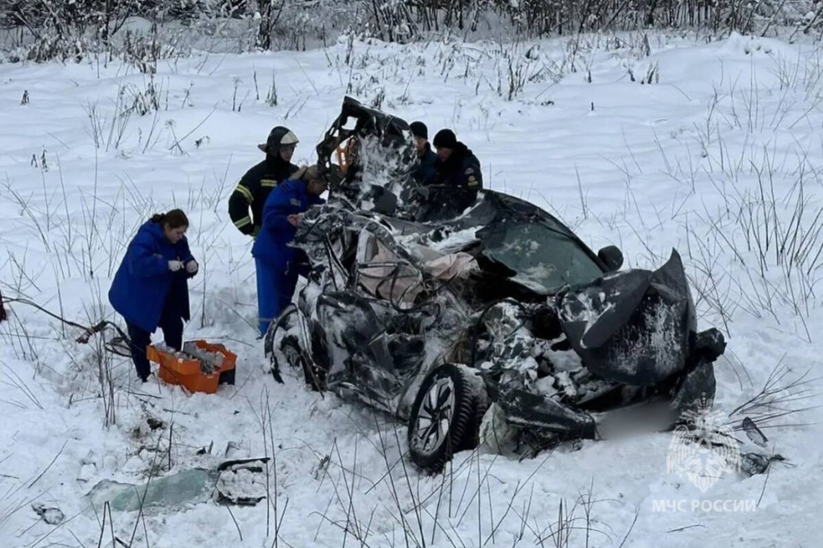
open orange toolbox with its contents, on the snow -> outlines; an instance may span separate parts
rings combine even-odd
[[[183,352],[151,344],[146,348],[146,357],[160,364],[160,379],[170,385],[182,385],[191,392],[214,394],[221,383],[235,384],[237,355],[222,344],[188,341],[183,345]]]

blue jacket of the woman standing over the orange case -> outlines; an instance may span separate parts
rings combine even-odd
[[[160,223],[147,221],[128,244],[109,289],[114,310],[140,329],[154,333],[164,306],[184,320],[188,315],[188,283],[194,274],[169,269],[170,260],[193,260],[184,237],[169,242]],[[166,302],[168,299],[168,302]]]

